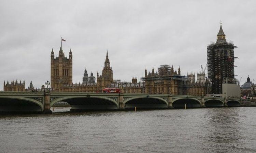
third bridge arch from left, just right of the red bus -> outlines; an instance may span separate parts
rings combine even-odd
[[[168,102],[160,97],[131,97],[124,100],[126,109],[137,108],[168,108]]]

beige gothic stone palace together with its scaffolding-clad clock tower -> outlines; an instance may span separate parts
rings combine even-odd
[[[220,48],[220,45],[228,46],[230,48]],[[212,47],[213,46],[213,47]],[[212,49],[213,48],[213,49]],[[216,48],[220,52],[215,55]],[[84,70],[84,76],[81,83],[72,82],[72,51],[70,49],[69,56],[66,57],[62,48],[60,48],[58,56],[55,57],[54,51],[51,52],[51,91],[53,92],[103,92],[104,88],[120,88],[123,93],[146,93],[146,94],[172,94],[172,95],[193,95],[204,96],[207,94],[218,94],[221,92],[222,78],[233,78],[233,63],[234,53],[233,44],[227,43],[225,34],[220,27],[217,34],[217,42],[208,46],[208,77],[205,79],[204,70],[197,73],[197,80],[195,72],[187,73],[187,76],[181,75],[181,68],[174,69],[170,65],[160,65],[157,70],[152,68],[151,71],[145,69],[144,76],[138,81],[137,77],[132,77],[131,82],[121,82],[120,80],[113,79],[113,70],[110,65],[108,51],[106,52],[106,58],[104,61],[104,67],[101,75],[97,72],[94,77],[93,72],[88,75],[87,70]],[[228,50],[228,51],[227,51]],[[229,53],[230,52],[230,53]],[[226,57],[227,64],[218,65],[214,63],[215,58]],[[229,54],[228,54],[229,53]],[[222,58],[220,59],[222,60]],[[216,60],[215,60],[216,61]],[[223,61],[223,60],[222,60]],[[103,63],[103,61],[102,61]],[[223,74],[215,74],[217,68],[223,70]],[[222,72],[218,70],[218,72]],[[226,71],[228,70],[228,71]],[[227,73],[227,74],[226,74]],[[230,74],[230,75],[228,75]],[[216,76],[221,78],[216,80]],[[218,79],[217,78],[217,79]],[[44,86],[41,89],[35,91],[43,91]],[[4,91],[33,91],[32,82],[28,89],[25,89],[25,81],[23,84],[17,81],[11,83],[4,82]]]

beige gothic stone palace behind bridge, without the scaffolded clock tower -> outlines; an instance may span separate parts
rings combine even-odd
[[[97,77],[91,72],[88,77],[87,70],[84,71],[82,83],[72,82],[72,51],[69,52],[69,58],[65,57],[62,49],[59,50],[59,56],[54,58],[54,51],[51,52],[51,91],[56,92],[102,92],[104,88],[120,88],[124,93],[152,93],[152,94],[174,94],[174,95],[195,95],[203,96],[207,94],[210,82],[205,81],[204,72],[197,74],[189,73],[187,76],[181,75],[180,67],[178,72],[169,65],[160,65],[155,73],[147,73],[138,82],[137,77],[132,77],[131,82],[120,82],[113,79],[113,70],[110,66],[108,51],[101,75],[97,72]],[[16,87],[18,86],[18,87]],[[4,82],[4,91],[44,91],[34,89],[32,82],[28,89],[25,89],[25,81],[17,83],[17,81],[9,84]]]

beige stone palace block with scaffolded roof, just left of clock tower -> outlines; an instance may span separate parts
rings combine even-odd
[[[207,85],[210,87],[209,82],[196,82],[195,74],[182,76],[180,67],[177,72],[169,65],[160,65],[156,73],[154,68],[148,73],[145,69],[142,81],[145,82],[145,93],[152,94],[203,96],[207,93]]]

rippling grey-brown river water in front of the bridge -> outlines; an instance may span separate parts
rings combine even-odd
[[[255,119],[256,107],[2,115],[0,152],[256,152]]]

